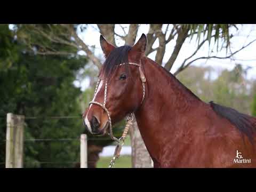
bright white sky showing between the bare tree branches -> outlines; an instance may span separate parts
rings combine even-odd
[[[128,31],[129,29],[129,24],[127,25],[122,25],[123,27],[126,27],[124,30]],[[163,29],[166,28],[167,25],[164,25]],[[238,49],[240,49],[242,46],[246,45],[247,43],[250,43],[254,39],[256,39],[256,25],[239,25],[238,26],[239,30],[236,30],[235,28],[230,31],[231,34],[234,35],[233,38],[231,38],[231,50],[234,52]],[[138,30],[138,35],[135,40],[135,42],[138,41],[142,33],[147,34],[149,29],[149,25],[140,25],[140,28]],[[123,29],[119,27],[119,25],[116,25],[115,32],[119,35],[124,35]],[[250,35],[249,35],[250,34]],[[100,48],[100,33],[98,30],[98,27],[96,24],[89,25],[86,30],[84,30],[82,33],[78,31],[79,37],[87,44],[90,46],[95,46],[95,54],[103,61],[103,54],[102,50]],[[168,35],[168,33],[167,33]],[[122,46],[124,45],[124,41],[121,38],[116,38],[116,44],[117,46]],[[221,44],[221,43],[219,43]],[[153,45],[153,48],[158,46],[158,42],[156,41],[155,44]],[[165,56],[163,58],[163,63],[165,63],[169,58],[170,55],[173,51],[173,48],[175,46],[175,41],[171,41],[166,45],[166,50],[165,50]],[[182,45],[182,48],[180,50],[180,53],[178,55],[178,58],[175,60],[173,68],[171,69],[171,73],[174,73],[175,70],[180,66],[180,63],[183,62],[184,59],[188,58],[194,51],[197,46],[196,43],[196,38],[193,38],[191,41],[190,39],[186,39],[185,43]],[[215,51],[215,45],[213,43],[210,46],[210,50],[213,50],[211,55],[217,55],[218,57],[225,57],[226,56],[226,50],[223,49],[220,52]],[[221,69],[228,69],[231,70],[235,67],[236,64],[242,64],[244,68],[246,67],[252,67],[251,69],[248,70],[247,73],[247,79],[256,79],[256,42],[252,43],[248,47],[246,47],[244,50],[241,52],[238,52],[233,56],[232,59],[209,59],[209,60],[197,60],[195,61],[192,65],[194,66],[211,66],[216,70],[221,70]],[[198,57],[205,57],[209,53],[209,44],[205,43],[201,49],[192,57],[190,60],[193,60]],[[84,54],[83,51],[80,52],[80,54]],[[151,53],[148,55],[150,59],[155,60],[155,54]],[[235,59],[235,60],[234,60]],[[188,61],[190,61],[188,60]],[[213,79],[217,77],[217,73],[214,77],[213,73]],[[85,90],[86,87],[89,85],[89,82],[87,79],[85,79],[81,86],[82,90]]]

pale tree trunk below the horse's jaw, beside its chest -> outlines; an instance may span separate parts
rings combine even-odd
[[[141,138],[137,122],[134,118],[133,126],[130,130],[132,145],[132,167],[150,168],[153,167],[153,161],[148,153],[144,141]]]

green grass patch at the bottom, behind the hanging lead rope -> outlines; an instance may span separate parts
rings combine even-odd
[[[100,157],[97,168],[108,168],[112,157]],[[113,168],[131,168],[132,158],[130,155],[123,155],[116,159],[116,163]]]

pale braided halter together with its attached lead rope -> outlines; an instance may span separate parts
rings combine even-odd
[[[129,62],[128,63],[129,65],[134,65],[134,66],[137,66],[139,67],[139,73],[140,73],[140,78],[141,78],[141,82],[142,82],[142,88],[143,88],[143,95],[142,95],[142,101],[141,103],[143,102],[144,98],[145,98],[145,83],[146,83],[146,77],[145,75],[143,74],[142,72],[142,69],[141,69],[141,66],[137,63],[133,63],[133,62]],[[122,66],[124,64],[120,64],[119,66]],[[98,79],[98,82],[97,82],[97,85],[96,85],[96,88],[95,88],[95,92],[94,92],[94,95],[96,94],[97,90],[98,90],[98,86],[99,86],[99,82],[100,82],[100,79]],[[122,147],[124,145],[124,140],[126,138],[126,135],[130,129],[130,127],[132,126],[132,121],[133,121],[133,115],[130,114],[129,116],[127,116],[127,123],[125,125],[125,128],[124,128],[124,132],[122,134],[122,137],[117,139],[116,137],[114,137],[113,135],[113,130],[112,130],[112,123],[111,123],[111,117],[110,117],[110,113],[108,111],[108,109],[106,108],[106,101],[107,101],[107,86],[108,86],[108,82],[106,81],[105,83],[105,91],[104,91],[104,102],[103,102],[103,105],[97,101],[91,101],[89,102],[89,105],[91,104],[95,104],[95,105],[98,105],[100,106],[103,110],[106,111],[106,114],[108,116],[108,122],[109,122],[109,135],[110,135],[110,138],[114,141],[117,142],[117,146],[115,148],[115,152],[114,152],[114,156],[113,158],[111,159],[110,161],[110,164],[109,164],[109,168],[111,168],[114,164],[115,164],[115,161],[116,159],[120,156],[121,154],[121,150],[122,150]]]

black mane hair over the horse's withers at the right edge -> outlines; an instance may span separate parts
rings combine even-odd
[[[213,101],[210,102],[210,105],[215,113],[228,119],[239,131],[247,135],[251,141],[253,140],[253,134],[256,133],[256,118],[239,113],[233,108],[218,105]]]

